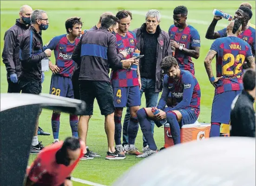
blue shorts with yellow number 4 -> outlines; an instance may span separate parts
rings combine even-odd
[[[113,87],[115,107],[140,106],[139,86]]]

